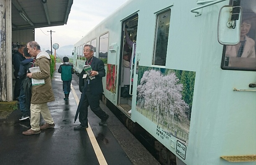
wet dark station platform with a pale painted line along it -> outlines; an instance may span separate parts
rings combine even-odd
[[[115,115],[100,102],[100,107],[110,115],[107,124],[88,110],[87,129],[76,131],[79,119],[74,116],[81,96],[78,76],[73,75],[72,92],[65,101],[61,74],[52,79],[55,101],[48,103],[55,127],[41,130],[37,135],[22,135],[30,128],[30,120],[19,121],[20,109],[7,118],[0,119],[1,165],[160,165],[160,163],[124,127]],[[41,119],[40,125],[44,124]]]

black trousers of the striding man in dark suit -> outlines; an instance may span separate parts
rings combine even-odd
[[[93,113],[97,115],[101,120],[105,120],[107,114],[100,108],[100,96],[94,95],[91,93],[90,89],[87,91],[83,91],[80,102],[78,104],[77,110],[79,110],[79,122],[83,126],[88,125],[88,107],[90,108]]]

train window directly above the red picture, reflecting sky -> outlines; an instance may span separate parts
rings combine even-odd
[[[108,33],[100,36],[99,58],[105,63],[108,63]]]

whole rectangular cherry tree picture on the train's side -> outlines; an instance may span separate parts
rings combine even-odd
[[[193,71],[139,66],[136,110],[159,132],[188,143],[194,85]]]

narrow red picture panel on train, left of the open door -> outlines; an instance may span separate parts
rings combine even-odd
[[[115,65],[108,64],[106,89],[108,89],[114,94],[115,94],[115,88],[116,88],[115,80],[116,80]]]

